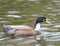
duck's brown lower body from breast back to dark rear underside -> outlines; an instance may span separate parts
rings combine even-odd
[[[9,35],[12,36],[13,38],[17,38],[19,36],[33,36],[33,35],[39,34],[37,31],[33,30],[32,28],[17,29],[17,30],[14,30],[13,33],[10,33],[10,32],[9,32]]]

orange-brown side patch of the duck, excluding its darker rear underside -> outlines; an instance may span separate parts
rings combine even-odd
[[[38,34],[33,29],[20,29],[15,31],[15,35],[36,35]]]

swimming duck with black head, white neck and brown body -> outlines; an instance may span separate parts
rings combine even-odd
[[[15,25],[15,26],[4,26],[3,25],[3,32],[5,36],[34,36],[34,35],[38,35],[41,34],[41,23],[42,22],[47,22],[49,23],[49,21],[47,20],[46,17],[38,17],[34,23],[33,28],[30,26],[26,26],[26,25]],[[14,27],[14,28],[13,28]]]

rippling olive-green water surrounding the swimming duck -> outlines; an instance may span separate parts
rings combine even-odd
[[[52,23],[41,24],[48,33],[40,40],[36,36],[7,39],[0,41],[0,46],[60,46],[60,0],[0,0],[0,31],[3,23],[33,27],[39,16],[47,17]]]

